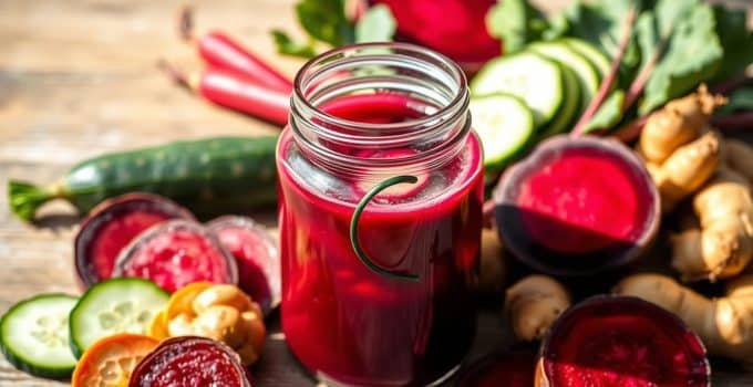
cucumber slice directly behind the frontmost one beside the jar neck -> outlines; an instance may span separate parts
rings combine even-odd
[[[523,100],[541,127],[563,103],[563,72],[541,55],[522,52],[489,61],[471,82],[471,93],[481,96],[507,93]]]

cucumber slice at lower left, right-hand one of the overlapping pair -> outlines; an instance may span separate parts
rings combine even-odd
[[[145,335],[169,294],[154,282],[112,279],[90,287],[71,311],[71,349],[76,357],[97,339],[116,333]]]

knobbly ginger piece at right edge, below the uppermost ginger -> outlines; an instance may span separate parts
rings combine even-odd
[[[693,197],[700,228],[670,237],[672,268],[685,279],[739,274],[753,259],[753,199],[734,172],[714,177]]]

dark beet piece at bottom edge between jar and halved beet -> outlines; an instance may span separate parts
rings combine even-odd
[[[532,387],[536,354],[519,351],[486,356],[471,365],[458,378],[458,387]]]

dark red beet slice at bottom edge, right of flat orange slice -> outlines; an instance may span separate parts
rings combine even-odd
[[[250,387],[238,355],[223,343],[179,336],[162,342],[131,374],[130,387]]]

